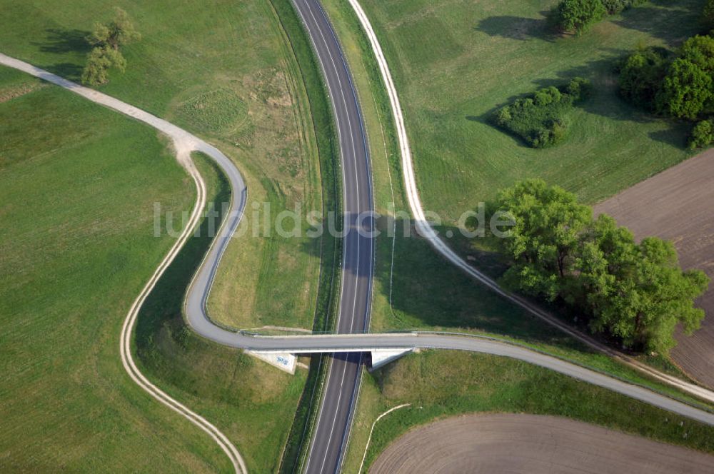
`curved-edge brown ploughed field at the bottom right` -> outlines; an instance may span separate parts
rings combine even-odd
[[[372,474],[714,473],[714,456],[542,415],[466,415],[411,430]]]

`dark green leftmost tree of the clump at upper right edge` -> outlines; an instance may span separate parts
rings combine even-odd
[[[667,61],[660,51],[640,49],[620,65],[620,94],[631,104],[655,109],[655,98],[667,75]]]

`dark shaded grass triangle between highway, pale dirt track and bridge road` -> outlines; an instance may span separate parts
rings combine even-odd
[[[533,343],[578,347],[543,321],[478,283],[446,261],[419,236],[412,220],[383,218],[383,231],[396,224],[392,238],[376,241],[374,278],[391,311],[383,315],[386,328],[466,330],[521,338]],[[435,228],[445,241],[466,255],[469,263],[497,277],[505,266],[496,253],[479,248],[454,226]],[[449,238],[448,236],[451,236]],[[481,240],[476,238],[476,240]],[[376,290],[377,291],[377,290]]]

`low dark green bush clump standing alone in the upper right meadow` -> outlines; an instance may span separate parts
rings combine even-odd
[[[576,77],[566,86],[550,86],[499,109],[493,121],[533,148],[553,146],[565,138],[565,115],[590,94],[590,83]]]

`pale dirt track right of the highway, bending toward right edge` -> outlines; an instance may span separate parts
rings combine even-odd
[[[613,349],[603,346],[602,344],[594,341],[588,336],[583,335],[579,331],[576,331],[573,328],[566,326],[565,323],[561,323],[560,321],[555,320],[553,316],[548,315],[543,310],[536,306],[533,306],[531,303],[524,300],[523,298],[516,296],[512,293],[508,293],[507,291],[503,290],[503,288],[501,288],[501,286],[499,286],[498,283],[496,283],[496,281],[494,281],[492,278],[486,276],[485,274],[476,270],[476,268],[473,268],[473,266],[469,265],[465,260],[463,260],[463,258],[458,256],[456,252],[451,250],[451,248],[443,240],[441,240],[436,231],[434,231],[433,228],[429,226],[428,221],[426,220],[426,217],[424,215],[423,208],[421,206],[421,200],[419,198],[419,192],[416,186],[416,175],[414,173],[413,162],[411,158],[411,148],[409,147],[409,140],[406,133],[406,126],[404,125],[404,117],[402,114],[401,104],[399,103],[399,97],[396,91],[396,87],[394,86],[394,81],[392,79],[391,72],[389,71],[389,66],[384,57],[384,53],[372,28],[372,24],[370,23],[367,15],[362,9],[362,6],[359,4],[359,1],[348,1],[352,6],[352,9],[357,14],[362,29],[370,42],[373,54],[377,59],[379,71],[382,75],[382,80],[384,81],[384,84],[387,89],[387,94],[389,96],[392,115],[394,117],[394,123],[396,126],[397,136],[399,140],[402,158],[402,168],[404,174],[404,184],[406,186],[409,207],[411,208],[411,213],[414,216],[416,228],[421,234],[421,236],[423,236],[423,238],[426,238],[429,243],[431,243],[431,246],[433,246],[433,248],[435,248],[438,253],[441,253],[441,255],[445,257],[448,261],[453,263],[453,265],[457,266],[458,268],[461,268],[461,270],[468,273],[469,276],[481,282],[484,286],[490,288],[498,295],[503,296],[503,298],[508,299],[508,301],[511,301],[512,303],[516,303],[516,305],[528,311],[528,313],[531,313],[533,316],[536,316],[537,318],[540,318],[543,321],[555,326],[556,328],[560,329],[560,331],[563,331],[569,336],[578,339],[578,341],[585,343],[591,348],[595,348],[598,351],[607,353],[609,356],[618,358],[619,360],[623,361],[623,363],[629,365],[632,368],[635,368],[636,370],[639,370],[640,372],[650,375],[650,377],[656,378],[657,380],[667,383],[668,385],[677,387],[687,393],[691,393],[700,398],[704,398],[705,400],[709,400],[710,402],[714,402],[714,391],[700,387],[693,383],[689,383],[685,380],[681,380],[680,378],[677,378],[673,375],[668,375],[666,373],[660,372],[659,370],[651,368],[648,365],[640,363],[638,360],[634,360],[628,356],[625,356],[622,353],[619,353],[618,351],[614,351]]]

